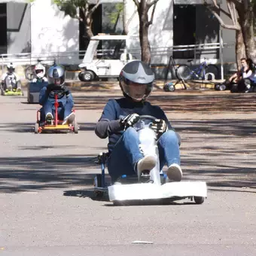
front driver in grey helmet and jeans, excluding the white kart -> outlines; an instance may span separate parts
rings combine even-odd
[[[157,164],[155,156],[144,155],[141,150],[139,135],[133,128],[139,115],[157,118],[151,128],[157,133],[160,169],[167,163],[169,180],[181,181],[180,137],[163,110],[146,100],[153,89],[154,72],[147,64],[136,60],[123,67],[119,78],[124,97],[108,100],[95,130],[99,138],[108,137],[108,173],[112,182],[121,175],[137,173],[140,176]]]

